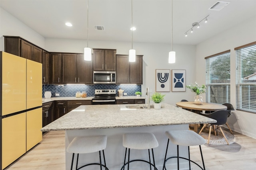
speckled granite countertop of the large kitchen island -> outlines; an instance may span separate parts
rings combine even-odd
[[[144,105],[144,104],[140,104]],[[104,129],[215,123],[216,120],[175,107],[162,104],[162,108],[127,109],[126,105],[82,105],[53,121],[41,131],[80,129]]]

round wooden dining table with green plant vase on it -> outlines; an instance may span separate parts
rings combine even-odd
[[[183,109],[190,109],[195,113],[200,113],[200,111],[217,111],[217,110],[226,110],[227,106],[216,103],[206,103],[194,104],[194,102],[177,102],[176,106],[182,107]],[[198,124],[194,125],[194,131],[198,133]]]

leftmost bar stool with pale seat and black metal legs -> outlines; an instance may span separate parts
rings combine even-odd
[[[106,135],[75,137],[67,147],[67,152],[73,153],[71,170],[73,167],[75,153],[77,154],[76,170],[79,170],[89,165],[100,165],[100,170],[102,170],[102,166],[105,167],[106,170],[108,170],[108,168],[106,167],[105,154],[104,154],[104,149],[106,148],[106,145],[107,145]],[[102,164],[101,162],[101,152],[100,152],[101,150],[103,152],[104,164]],[[80,168],[77,168],[79,154],[86,154],[86,153],[92,153],[92,152],[98,152],[98,151],[100,156],[100,163],[86,164],[81,166]]]

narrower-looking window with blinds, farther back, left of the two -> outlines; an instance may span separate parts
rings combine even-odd
[[[205,59],[206,102],[230,103],[230,50]]]

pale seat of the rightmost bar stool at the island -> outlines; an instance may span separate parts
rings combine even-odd
[[[165,134],[175,145],[198,146],[205,143],[203,137],[190,130],[166,131]]]

